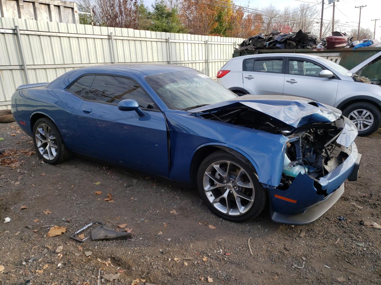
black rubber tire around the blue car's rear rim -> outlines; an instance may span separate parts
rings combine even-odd
[[[36,130],[37,130],[38,125],[40,125],[42,123],[46,124],[50,128],[50,130],[52,131],[52,133],[54,134],[54,136],[56,138],[54,140],[54,142],[57,146],[57,155],[52,160],[48,160],[45,157],[43,157],[42,154],[40,153],[40,151],[38,150],[38,147],[37,147]],[[38,119],[34,123],[34,126],[33,126],[33,143],[34,143],[34,147],[35,147],[37,155],[46,163],[56,165],[56,164],[62,163],[64,161],[70,159],[70,152],[65,146],[64,140],[62,139],[62,136],[61,136],[61,133],[59,132],[57,126],[53,123],[53,121],[51,119],[49,119],[48,117]]]

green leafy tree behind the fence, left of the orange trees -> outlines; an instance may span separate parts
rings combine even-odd
[[[184,26],[179,21],[176,8],[165,5],[163,0],[152,5],[152,11],[141,4],[139,6],[139,28],[155,32],[183,33]]]

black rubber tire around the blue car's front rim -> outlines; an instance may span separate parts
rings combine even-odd
[[[245,214],[232,216],[224,214],[220,211],[218,211],[212,203],[208,200],[206,192],[203,187],[203,177],[204,173],[207,170],[208,166],[211,165],[211,163],[215,163],[219,160],[226,160],[231,161],[237,165],[240,166],[250,177],[251,181],[254,185],[254,199],[253,199],[253,205],[250,209],[248,209]],[[224,218],[225,220],[229,220],[232,222],[243,222],[252,220],[253,218],[257,217],[263,210],[265,204],[266,204],[266,192],[262,185],[259,183],[258,178],[250,167],[250,162],[246,160],[243,157],[240,157],[239,155],[230,154],[228,152],[225,152],[223,150],[219,150],[216,152],[213,152],[208,157],[206,157],[202,163],[200,164],[199,170],[197,171],[197,188],[199,190],[199,194],[201,199],[204,201],[204,203],[208,206],[208,208],[214,212],[216,215],[218,215],[221,218]]]

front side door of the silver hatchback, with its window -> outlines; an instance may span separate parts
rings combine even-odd
[[[309,98],[330,106],[335,105],[338,79],[320,78],[325,68],[303,59],[289,59],[284,78],[283,95]]]

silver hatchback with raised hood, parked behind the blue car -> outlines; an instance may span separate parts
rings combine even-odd
[[[217,82],[238,95],[292,95],[336,107],[368,136],[381,125],[381,86],[356,73],[380,58],[381,52],[347,70],[316,55],[246,55],[229,60]]]

